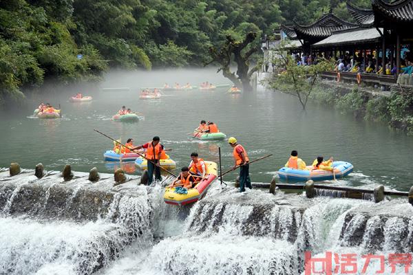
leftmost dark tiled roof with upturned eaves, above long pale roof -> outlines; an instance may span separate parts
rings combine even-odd
[[[357,28],[357,25],[343,21],[331,13],[325,14],[311,25],[299,25],[298,23],[294,25],[297,37],[313,36],[315,38],[326,38],[334,31],[348,30],[350,28]]]

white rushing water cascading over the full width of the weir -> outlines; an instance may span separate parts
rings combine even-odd
[[[391,274],[388,255],[412,250],[413,219],[385,209],[368,214],[380,206],[372,201],[241,195],[215,183],[202,201],[178,208],[163,202],[162,190],[119,192],[96,221],[3,215],[0,274],[304,274],[306,251],[321,258],[332,252],[336,274],[350,268],[335,265],[345,254],[355,254],[357,271],[349,274],[362,274],[363,255],[383,254],[384,274]],[[390,203],[400,213],[413,210],[405,201]],[[363,274],[377,270],[372,260]],[[394,274],[405,274],[403,267]]]

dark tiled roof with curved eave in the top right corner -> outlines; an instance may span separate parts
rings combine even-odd
[[[383,14],[385,17],[410,23],[413,21],[413,0],[399,0],[394,3],[386,3],[383,0],[372,0],[374,12]]]

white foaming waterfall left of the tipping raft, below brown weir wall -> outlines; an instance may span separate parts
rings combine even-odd
[[[52,203],[48,201],[47,205]],[[59,221],[45,219],[44,214],[33,219],[34,212],[45,210],[44,203],[38,207],[30,210],[30,219],[4,212],[0,217],[0,274],[92,274],[118,259],[132,243],[142,248],[152,245],[153,213],[145,187],[130,196],[117,192],[107,214],[96,221]],[[68,206],[72,207],[76,203]],[[59,211],[55,214],[62,217]]]

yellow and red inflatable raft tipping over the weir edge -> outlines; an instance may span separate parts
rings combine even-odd
[[[176,193],[174,187],[165,188],[165,203],[184,206],[202,199],[211,183],[218,177],[217,164],[215,162],[205,162],[205,164],[207,164],[207,179],[200,181],[194,188],[188,189],[187,194]]]

